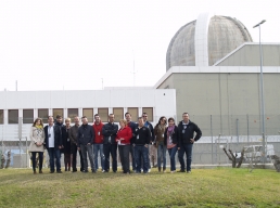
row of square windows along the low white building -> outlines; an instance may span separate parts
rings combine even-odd
[[[34,109],[23,109],[23,123],[33,123],[34,122]],[[131,114],[133,120],[139,116],[138,107],[128,107],[127,112]],[[150,121],[153,121],[153,108],[152,107],[142,107],[142,112],[148,114]],[[42,118],[43,122],[48,121],[49,109],[42,108],[37,112],[38,117]],[[55,118],[56,115],[61,115],[63,118],[71,118],[72,122],[74,121],[75,116],[87,116],[89,122],[93,122],[94,114],[99,114],[103,122],[107,121],[107,115],[113,113],[115,115],[115,120],[124,118],[124,108],[114,107],[113,112],[109,112],[109,108],[98,108],[98,112],[93,112],[93,108],[82,108],[82,115],[79,115],[78,108],[67,108],[67,115],[64,115],[63,108],[53,108],[52,116]],[[0,109],[0,125],[4,123],[4,110]],[[18,109],[8,109],[8,123],[18,123]]]

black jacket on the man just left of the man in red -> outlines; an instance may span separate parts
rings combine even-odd
[[[87,145],[88,143],[93,144],[94,140],[94,130],[92,126],[90,125],[81,125],[78,129],[78,135],[77,135],[77,141],[78,141],[78,147],[80,145]]]

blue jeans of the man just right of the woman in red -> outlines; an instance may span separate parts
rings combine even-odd
[[[141,172],[141,158],[143,158],[143,172],[147,173],[149,169],[148,164],[148,153],[149,147],[143,146],[135,146],[135,156],[136,156],[136,170],[137,172]]]

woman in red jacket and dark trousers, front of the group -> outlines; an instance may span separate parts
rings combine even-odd
[[[129,170],[129,151],[130,151],[130,140],[132,138],[132,132],[129,127],[127,127],[127,121],[124,119],[119,120],[120,129],[116,135],[116,142],[118,144],[118,154],[120,157],[120,162],[124,173],[130,173]]]

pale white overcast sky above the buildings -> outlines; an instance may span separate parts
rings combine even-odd
[[[0,91],[152,87],[168,44],[200,13],[280,42],[279,0],[0,0]]]

